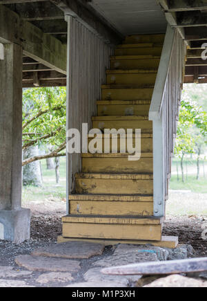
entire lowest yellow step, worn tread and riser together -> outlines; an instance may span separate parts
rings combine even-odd
[[[161,240],[161,219],[153,217],[63,217],[63,237]]]

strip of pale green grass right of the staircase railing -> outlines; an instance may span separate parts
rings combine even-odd
[[[181,181],[181,175],[179,175],[179,181],[177,181],[177,176],[173,175],[170,180],[170,189],[172,190],[190,190],[192,192],[207,193],[207,178],[201,177],[196,180],[195,175],[189,175],[185,182]]]

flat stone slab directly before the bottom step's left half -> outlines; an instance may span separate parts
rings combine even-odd
[[[34,256],[62,257],[69,259],[86,259],[103,253],[102,244],[82,241],[68,241],[62,244],[51,244],[47,248],[39,248],[31,254]]]

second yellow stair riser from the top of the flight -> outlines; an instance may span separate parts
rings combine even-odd
[[[162,47],[152,48],[118,48],[115,49],[115,55],[161,55]]]

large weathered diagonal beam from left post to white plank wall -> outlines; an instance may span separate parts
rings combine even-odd
[[[0,5],[0,42],[23,46],[23,54],[66,74],[66,45]]]

